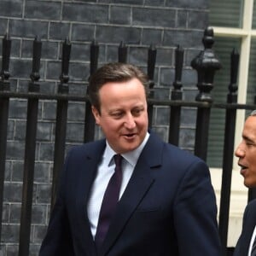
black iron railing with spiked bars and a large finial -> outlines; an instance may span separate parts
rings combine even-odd
[[[221,188],[221,200],[219,208],[219,234],[223,244],[223,253],[226,253],[227,233],[230,211],[230,184],[232,161],[234,152],[234,137],[237,109],[255,109],[255,105],[237,104],[236,95],[236,77],[239,63],[239,55],[234,50],[231,53],[231,76],[229,94],[227,102],[212,102],[211,90],[214,73],[221,67],[218,59],[212,50],[213,31],[207,28],[203,38],[204,49],[191,62],[198,74],[198,95],[193,102],[183,101],[183,84],[181,82],[183,71],[183,49],[177,46],[175,55],[175,80],[173,82],[171,100],[154,99],[154,67],[156,61],[156,49],[153,45],[148,49],[148,78],[150,95],[148,99],[148,119],[149,126],[152,125],[152,116],[154,106],[167,106],[170,108],[169,124],[169,143],[178,145],[180,130],[180,119],[182,108],[196,108],[196,126],[195,126],[195,154],[203,160],[207,159],[207,143],[209,122],[212,108],[225,109],[225,133],[224,133],[224,163]],[[0,81],[0,233],[2,231],[3,214],[3,188],[4,173],[7,148],[7,133],[9,120],[9,100],[26,99],[27,100],[27,118],[26,118],[26,142],[24,158],[24,176],[23,176],[23,194],[21,202],[20,217],[20,241],[19,255],[29,255],[30,233],[32,222],[32,191],[34,180],[34,164],[37,142],[37,123],[38,123],[38,101],[50,100],[56,102],[55,114],[55,149],[53,161],[52,194],[51,205],[55,202],[55,191],[59,182],[59,172],[63,166],[64,154],[66,148],[67,132],[67,109],[69,102],[84,102],[84,143],[94,140],[95,120],[90,111],[90,102],[87,93],[84,95],[70,95],[68,90],[68,67],[71,52],[71,43],[68,40],[62,44],[61,75],[58,92],[55,95],[40,92],[39,85],[39,67],[41,56],[41,42],[35,38],[33,44],[33,61],[31,82],[27,92],[14,92],[9,86],[9,56],[11,40],[9,36],[3,38],[2,70]],[[123,42],[119,45],[119,61],[127,61],[127,47]],[[90,47],[90,75],[96,71],[98,66],[99,47],[96,42],[92,42]],[[90,79],[90,78],[89,78]],[[250,192],[251,198],[253,192]]]

